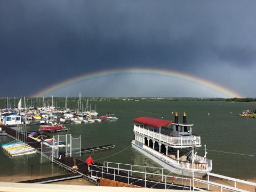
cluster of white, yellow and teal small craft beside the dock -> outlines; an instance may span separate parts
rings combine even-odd
[[[27,155],[36,153],[35,148],[27,145],[25,142],[10,142],[2,145],[6,153],[12,156]]]

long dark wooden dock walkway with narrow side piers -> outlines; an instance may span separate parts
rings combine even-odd
[[[10,137],[16,139],[16,131],[11,129],[10,127],[3,127],[3,130],[9,135]],[[34,147],[37,151],[37,153],[41,154],[41,142],[36,141],[34,139],[31,139],[29,137],[26,138],[28,141],[28,144],[32,147]],[[52,156],[51,156],[51,151],[52,148],[49,146],[46,146],[44,144],[42,148],[42,155],[45,158],[48,158],[50,161],[52,161]],[[88,149],[83,149],[84,153],[86,151],[96,151],[97,149],[100,150],[103,148],[113,148],[113,145],[106,145],[106,146],[99,146],[96,148],[88,148]],[[73,169],[74,166],[74,159],[77,165],[78,169]],[[141,177],[132,177],[131,174],[127,174],[123,171],[114,169],[113,167],[104,167],[102,164],[95,162],[94,165],[92,166],[92,171],[88,171],[88,165],[86,162],[78,159],[78,158],[73,158],[65,155],[61,155],[60,158],[54,158],[53,161],[55,164],[62,166],[64,169],[67,169],[74,174],[74,176],[70,177],[83,177],[95,184],[98,184],[100,182],[100,179],[108,179],[108,180],[113,180],[117,182],[122,182],[122,183],[127,183],[128,185],[135,185],[139,187],[146,187],[146,188],[158,188],[158,189],[186,189],[186,190],[191,190],[191,186],[189,187],[184,187],[182,185],[173,185],[173,183],[170,182],[158,182],[156,180],[150,180],[146,178],[141,178]],[[129,172],[128,172],[129,173]],[[39,180],[34,180],[34,181],[23,181],[23,182],[54,182],[54,181],[59,181],[60,179],[65,179],[65,178],[70,178],[64,176],[56,176],[55,178],[44,178],[44,179],[39,179]],[[70,178],[71,179],[71,178]]]

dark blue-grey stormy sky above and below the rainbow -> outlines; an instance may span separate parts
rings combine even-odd
[[[255,1],[2,0],[0,97],[31,95],[85,73],[134,67],[175,70],[256,97],[255,7]],[[189,82],[174,86],[174,79],[156,79],[108,77],[116,89],[107,89],[106,79],[98,78],[54,94],[227,97]],[[156,83],[150,93],[146,80]],[[140,83],[145,90],[134,91]]]

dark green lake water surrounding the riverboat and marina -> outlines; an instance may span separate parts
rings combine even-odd
[[[75,102],[69,102],[75,108]],[[91,103],[94,106],[94,102]],[[2,103],[3,107],[4,103]],[[62,105],[63,106],[63,105]],[[256,103],[227,103],[227,102],[196,102],[196,101],[151,101],[151,102],[97,102],[99,115],[105,115],[107,111],[115,114],[119,119],[112,122],[92,124],[67,124],[69,132],[73,137],[82,135],[82,148],[113,144],[115,149],[99,151],[93,154],[82,154],[85,160],[92,155],[94,161],[119,162],[127,164],[139,164],[147,166],[158,166],[137,150],[129,147],[126,150],[111,156],[122,149],[131,146],[133,139],[132,119],[140,116],[174,119],[172,111],[179,111],[180,119],[183,111],[187,113],[187,122],[194,124],[193,133],[201,135],[202,149],[228,151],[231,153],[250,154],[244,156],[208,151],[207,156],[212,159],[213,173],[223,174],[241,179],[256,178],[256,119],[239,117],[241,111],[256,109]],[[231,114],[230,114],[231,112]],[[210,113],[210,116],[208,115]],[[28,130],[38,130],[38,125],[29,126]],[[57,133],[49,133],[53,135]],[[2,137],[0,142],[11,140]],[[203,150],[198,150],[203,154]],[[30,173],[33,164],[34,173],[45,173],[51,175],[63,171],[56,165],[44,159],[40,164],[37,154],[7,157],[0,150],[1,174]]]

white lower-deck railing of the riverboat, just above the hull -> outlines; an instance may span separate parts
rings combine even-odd
[[[178,161],[175,160],[169,156],[166,156],[164,154],[159,153],[158,151],[151,149],[150,147],[147,147],[145,145],[143,145],[143,149],[145,149],[146,151],[148,151],[150,154],[162,159],[163,161],[165,161],[166,163],[171,164],[174,167],[178,167],[180,169],[187,169],[187,170],[191,170],[192,171],[192,163],[188,163],[188,162],[182,162],[182,161]],[[194,170],[208,170],[208,164],[207,163],[194,163]]]

